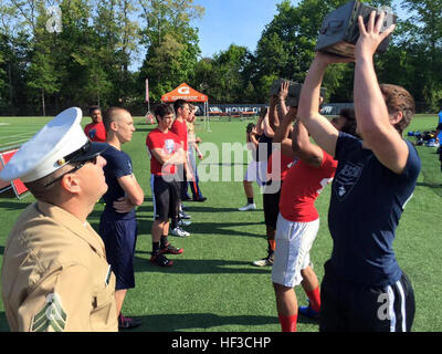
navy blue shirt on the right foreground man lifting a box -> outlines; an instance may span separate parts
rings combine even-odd
[[[421,168],[415,148],[407,145],[407,166],[397,175],[362,148],[362,140],[339,134],[328,227],[334,241],[329,263],[344,281],[385,287],[402,274],[392,242]]]

